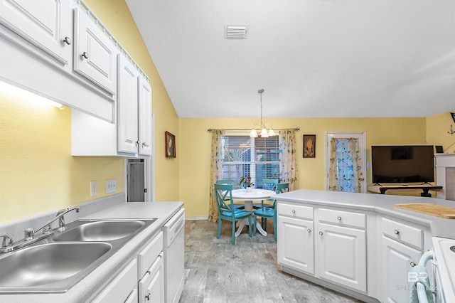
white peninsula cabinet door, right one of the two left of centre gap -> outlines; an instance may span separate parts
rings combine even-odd
[[[319,277],[366,292],[365,230],[318,223]]]

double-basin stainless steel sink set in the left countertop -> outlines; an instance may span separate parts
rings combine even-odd
[[[0,255],[0,294],[66,292],[156,219],[76,220]]]

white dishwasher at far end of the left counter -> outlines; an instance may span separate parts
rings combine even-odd
[[[182,208],[163,226],[164,302],[177,303],[185,275],[185,209]]]

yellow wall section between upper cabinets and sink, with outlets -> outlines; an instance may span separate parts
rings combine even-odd
[[[0,222],[90,200],[91,180],[123,191],[122,160],[70,156],[70,114],[0,92]]]

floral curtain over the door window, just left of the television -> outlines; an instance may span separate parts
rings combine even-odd
[[[332,138],[328,190],[360,193],[362,159],[357,138]]]

